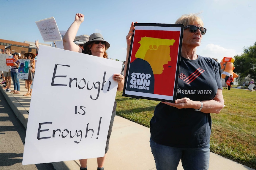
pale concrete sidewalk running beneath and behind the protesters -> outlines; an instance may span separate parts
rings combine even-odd
[[[20,80],[20,94],[5,92],[2,87],[3,85],[0,88],[1,93],[26,128],[31,97],[23,96],[27,92],[25,81]],[[106,170],[156,170],[149,139],[149,128],[116,116],[104,168]],[[52,164],[56,170],[79,170],[80,168],[79,160]],[[96,158],[89,159],[87,166],[88,170],[97,169]],[[209,170],[253,170],[214,153],[210,153],[209,166]],[[183,170],[181,162],[178,170]]]

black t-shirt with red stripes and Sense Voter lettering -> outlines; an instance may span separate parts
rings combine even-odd
[[[181,57],[177,99],[187,97],[193,101],[211,100],[216,96],[218,88],[222,89],[222,84],[216,61],[201,56],[196,60]],[[211,115],[159,103],[150,127],[151,138],[156,143],[195,148],[210,142]]]

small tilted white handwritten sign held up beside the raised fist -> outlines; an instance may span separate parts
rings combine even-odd
[[[36,24],[44,42],[62,41],[61,34],[54,17],[36,21]]]

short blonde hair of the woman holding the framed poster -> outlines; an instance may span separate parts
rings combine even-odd
[[[181,17],[178,18],[178,20],[176,20],[175,24],[183,24],[184,27],[186,27],[186,26],[192,25],[196,22],[201,27],[203,27],[203,20],[197,16],[198,14],[200,14],[200,13],[182,15]]]

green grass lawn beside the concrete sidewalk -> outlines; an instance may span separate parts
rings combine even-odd
[[[256,169],[256,92],[223,89],[225,107],[211,114],[211,152]],[[116,114],[150,127],[150,119],[159,101],[123,97],[116,94]]]

